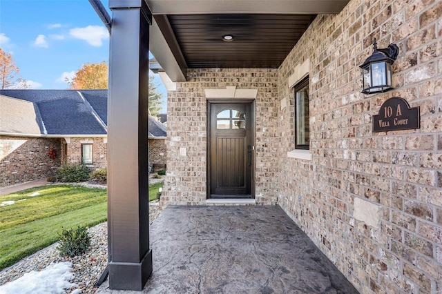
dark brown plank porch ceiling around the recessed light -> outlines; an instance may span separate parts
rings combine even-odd
[[[168,14],[188,68],[278,68],[316,14]],[[168,26],[169,28],[165,28]],[[233,41],[223,41],[233,35]]]

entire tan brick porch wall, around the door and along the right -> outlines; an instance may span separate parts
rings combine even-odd
[[[440,0],[354,0],[318,15],[278,70],[189,70],[168,94],[162,204],[206,199],[204,88],[258,88],[258,204],[278,203],[361,293],[441,293],[441,15]],[[363,95],[358,66],[375,37],[379,48],[400,48],[396,89]],[[307,59],[311,160],[289,156],[289,78]],[[419,130],[372,133],[390,97],[420,106]]]

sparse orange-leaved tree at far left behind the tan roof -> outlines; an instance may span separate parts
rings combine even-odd
[[[14,64],[12,55],[0,48],[0,83],[3,89],[27,89],[26,79],[21,79],[19,68]]]

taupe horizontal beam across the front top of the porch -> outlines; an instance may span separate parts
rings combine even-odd
[[[146,0],[155,14],[339,13],[349,0]]]

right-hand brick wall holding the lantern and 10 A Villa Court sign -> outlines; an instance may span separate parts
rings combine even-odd
[[[280,206],[361,293],[442,291],[441,15],[441,1],[350,1],[319,15],[278,71],[278,99],[291,101],[279,113]],[[363,95],[358,66],[374,37],[400,48],[396,90]],[[311,161],[287,156],[288,79],[306,59]],[[420,106],[421,129],[372,133],[372,115],[395,96]],[[378,214],[356,217],[369,208]]]

